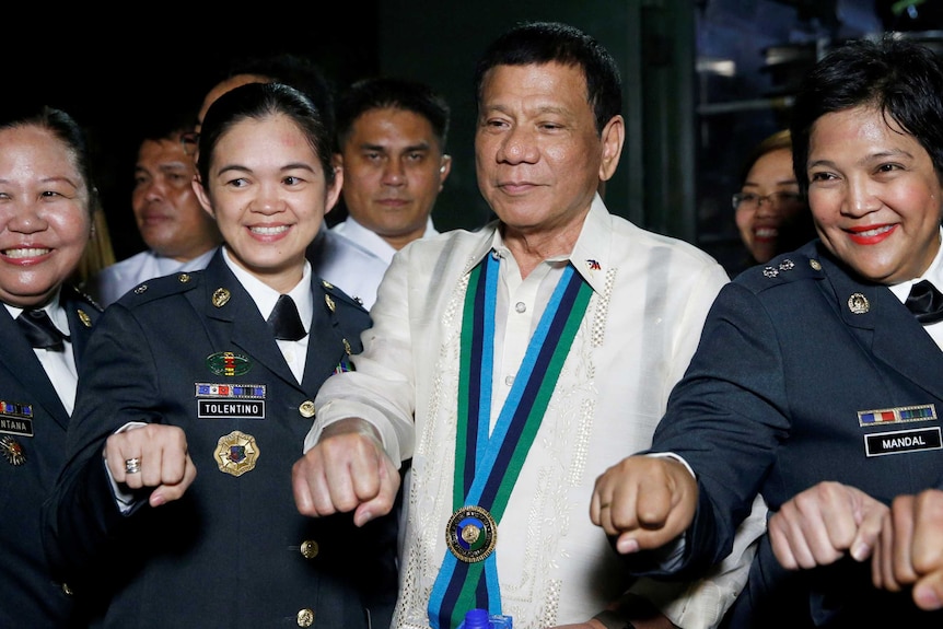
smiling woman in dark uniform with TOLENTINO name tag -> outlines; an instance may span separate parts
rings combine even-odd
[[[304,257],[340,191],[330,138],[300,92],[257,83],[212,105],[199,155],[224,246],[103,317],[50,550],[112,597],[106,627],[386,627],[394,523],[307,519],[291,490],[311,400],[370,323]]]

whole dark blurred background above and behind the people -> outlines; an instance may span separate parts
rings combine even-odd
[[[84,124],[118,258],[142,248],[130,211],[140,120],[202,101],[231,59],[289,51],[337,85],[385,73],[426,81],[452,107],[452,175],[440,230],[490,217],[475,183],[472,73],[484,47],[523,20],[598,38],[624,80],[628,138],[606,201],[647,229],[724,263],[738,251],[730,195],[741,161],[789,124],[792,93],[833,46],[900,31],[943,49],[941,0],[358,0],[207,8],[200,3],[21,7],[0,37],[0,103],[43,97]],[[33,13],[31,13],[33,11]]]

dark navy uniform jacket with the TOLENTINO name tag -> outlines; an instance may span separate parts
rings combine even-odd
[[[114,598],[106,627],[387,627],[395,522],[299,514],[291,468],[314,395],[360,350],[368,313],[312,280],[301,384],[218,253],[110,305],[80,372],[71,459],[47,511],[50,551],[77,594]],[[186,431],[197,478],[183,499],[121,515],[102,462],[130,421]]]

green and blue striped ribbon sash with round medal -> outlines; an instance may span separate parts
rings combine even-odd
[[[568,265],[527,345],[521,370],[489,436],[498,265],[497,254],[486,256],[469,275],[465,294],[453,479],[455,515],[447,531],[450,550],[429,601],[433,629],[457,627],[468,609],[487,608],[491,614],[501,614],[492,551],[497,524],[540,428],[593,292]],[[463,539],[464,527],[469,525],[474,535]]]

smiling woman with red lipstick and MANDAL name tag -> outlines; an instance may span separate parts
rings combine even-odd
[[[840,46],[791,132],[819,238],[721,289],[652,450],[599,477],[592,517],[633,572],[679,539],[671,569],[696,570],[759,494],[769,534],[722,627],[943,627],[874,555],[896,498],[943,489],[943,58]]]

